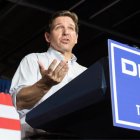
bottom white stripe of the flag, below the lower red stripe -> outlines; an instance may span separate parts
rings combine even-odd
[[[15,130],[0,129],[0,140],[21,140],[21,132]]]

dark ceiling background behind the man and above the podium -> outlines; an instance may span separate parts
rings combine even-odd
[[[107,39],[140,46],[139,0],[0,0],[0,76],[11,79],[28,53],[47,50],[44,28],[50,14],[79,16],[78,62],[89,67],[108,55]]]

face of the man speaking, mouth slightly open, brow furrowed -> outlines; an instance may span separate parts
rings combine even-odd
[[[75,24],[70,17],[57,17],[52,24],[48,37],[51,47],[61,53],[71,53],[77,43],[78,35],[75,31]]]

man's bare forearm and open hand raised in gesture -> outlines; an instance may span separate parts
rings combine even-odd
[[[54,60],[48,70],[40,66],[42,78],[34,85],[24,87],[19,91],[16,100],[17,109],[32,108],[52,86],[59,84],[63,80],[68,72],[68,64],[61,61],[55,68],[56,62],[57,61]]]

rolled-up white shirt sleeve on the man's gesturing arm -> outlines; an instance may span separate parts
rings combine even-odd
[[[38,81],[39,66],[37,57],[34,53],[25,56],[20,62],[12,79],[10,94],[12,96],[13,104],[16,107],[16,96],[19,91],[26,86],[30,86]],[[18,110],[20,116],[28,112],[27,109]]]

